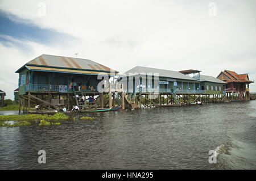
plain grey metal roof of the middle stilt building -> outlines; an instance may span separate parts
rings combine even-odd
[[[164,69],[155,69],[155,68],[147,68],[143,66],[135,66],[135,68],[126,71],[126,75],[128,76],[129,73],[138,73],[140,75],[146,75],[147,73],[159,73],[159,77],[168,77],[168,78],[176,78],[176,79],[185,79],[190,81],[197,81],[195,78],[188,77],[180,73],[179,71],[171,71],[171,70],[164,70]]]

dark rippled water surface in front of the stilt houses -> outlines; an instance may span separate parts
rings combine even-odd
[[[256,169],[255,106],[250,101],[87,113],[49,127],[36,121],[2,127],[0,169]],[[220,145],[228,150],[209,164],[209,150]],[[47,164],[38,163],[42,149]],[[247,149],[250,159],[242,157]]]

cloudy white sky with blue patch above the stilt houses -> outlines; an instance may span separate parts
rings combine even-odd
[[[14,72],[41,54],[79,53],[121,73],[139,65],[216,77],[226,69],[254,81],[255,8],[255,0],[0,0],[0,89],[14,99]]]

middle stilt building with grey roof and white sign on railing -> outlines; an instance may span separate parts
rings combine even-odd
[[[122,78],[126,92],[175,92],[176,94],[200,94],[200,80],[179,71],[136,66],[126,71]]]

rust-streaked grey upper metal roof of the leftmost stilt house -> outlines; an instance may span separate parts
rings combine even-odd
[[[98,64],[92,60],[72,57],[53,56],[49,54],[42,54],[36,57],[34,60],[27,62],[29,65],[36,66],[48,66],[57,68],[68,69],[85,69],[85,70],[97,70],[97,71],[110,71],[107,66]],[[113,70],[118,73],[118,71]]]

